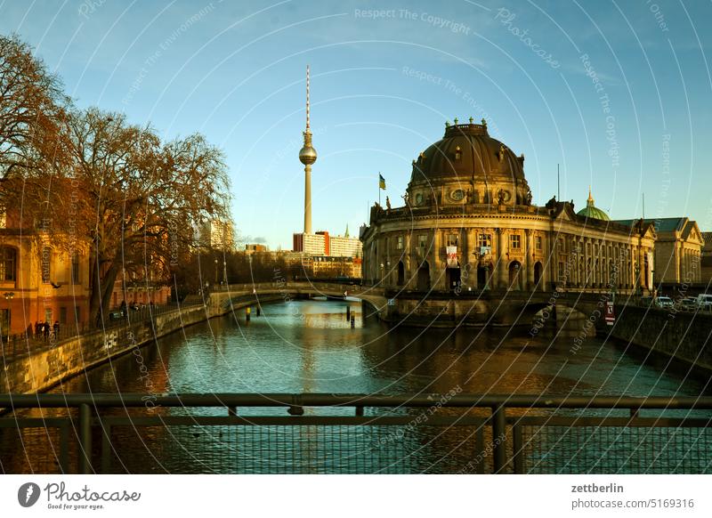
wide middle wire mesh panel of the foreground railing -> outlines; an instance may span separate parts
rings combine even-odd
[[[111,473],[458,473],[476,428],[374,425],[112,427]]]

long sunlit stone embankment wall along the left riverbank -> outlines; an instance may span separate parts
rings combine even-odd
[[[279,295],[260,297],[260,303],[280,300]],[[30,351],[6,362],[0,371],[0,391],[38,393],[62,380],[145,346],[158,338],[193,324],[255,305],[254,296],[232,297],[225,292],[211,294],[205,304],[195,304],[129,323],[118,328],[97,330],[75,336],[53,347]],[[244,311],[240,312],[244,318]]]

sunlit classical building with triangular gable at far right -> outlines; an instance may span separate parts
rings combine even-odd
[[[633,226],[639,220],[619,220]],[[704,240],[697,222],[686,217],[646,219],[655,227],[653,271],[655,284],[695,284],[702,280]]]

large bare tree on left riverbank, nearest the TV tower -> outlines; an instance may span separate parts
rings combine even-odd
[[[69,140],[92,239],[90,319],[108,307],[120,272],[166,279],[174,247],[193,228],[227,217],[223,154],[198,134],[161,143],[150,128],[90,109],[70,118]],[[93,320],[92,320],[93,321]]]

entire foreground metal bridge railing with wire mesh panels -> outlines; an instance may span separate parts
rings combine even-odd
[[[712,397],[4,394],[0,408],[4,473],[712,473]]]

